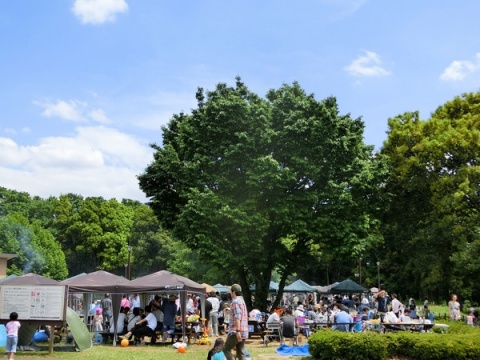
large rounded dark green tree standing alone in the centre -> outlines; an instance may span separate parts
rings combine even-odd
[[[272,271],[282,287],[312,244],[342,257],[370,246],[384,168],[360,119],[297,83],[263,99],[237,79],[199,89],[197,101],[163,128],[140,187],[162,224],[236,278],[247,301],[253,282],[265,308]]]

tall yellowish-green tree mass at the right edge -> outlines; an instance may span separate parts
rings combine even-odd
[[[448,299],[479,293],[480,93],[454,98],[430,119],[389,120],[392,200],[384,218],[390,284],[409,295]]]

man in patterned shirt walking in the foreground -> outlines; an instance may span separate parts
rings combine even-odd
[[[230,288],[232,304],[230,307],[230,324],[223,352],[227,360],[235,360],[232,349],[235,348],[239,360],[245,360],[245,340],[248,338],[248,312],[242,296],[242,287],[233,284]]]

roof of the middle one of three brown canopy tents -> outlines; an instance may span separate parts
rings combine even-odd
[[[81,293],[121,293],[120,285],[126,285],[130,280],[108,271],[98,270],[89,274],[80,274],[63,280],[60,284],[68,285],[69,292]]]

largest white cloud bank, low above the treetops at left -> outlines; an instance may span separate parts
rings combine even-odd
[[[105,126],[20,146],[0,138],[0,186],[42,197],[75,193],[146,201],[136,176],[152,161],[139,139]]]

